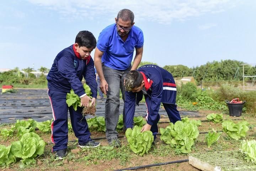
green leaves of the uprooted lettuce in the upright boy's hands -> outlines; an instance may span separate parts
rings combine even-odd
[[[91,89],[87,84],[84,84],[84,89],[85,89],[85,93],[87,96],[89,96],[90,98],[92,98],[91,94]],[[75,94],[74,90],[71,89],[70,93],[67,93],[66,95],[66,103],[68,104],[68,107],[73,106],[74,110],[77,110],[77,107],[81,107],[81,99],[78,95]]]

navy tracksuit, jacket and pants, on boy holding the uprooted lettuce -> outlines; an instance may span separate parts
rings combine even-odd
[[[52,151],[67,148],[68,144],[68,109],[71,125],[79,143],[91,140],[86,119],[82,116],[82,107],[77,111],[66,104],[66,94],[71,89],[78,96],[85,94],[81,83],[84,76],[86,84],[90,86],[92,97],[97,97],[97,82],[94,71],[94,61],[91,56],[85,60],[80,59],[74,45],[63,49],[54,59],[52,68],[47,75],[48,95],[53,111],[52,142],[55,144]]]

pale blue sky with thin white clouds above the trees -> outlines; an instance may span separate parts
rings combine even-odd
[[[144,62],[256,63],[256,0],[8,0],[0,2],[0,68],[50,69],[79,31],[98,39],[124,8],[143,31]]]

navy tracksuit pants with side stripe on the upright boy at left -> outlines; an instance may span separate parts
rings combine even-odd
[[[85,117],[82,116],[82,107],[78,107],[76,111],[72,106],[68,107],[66,94],[66,92],[62,91],[48,90],[53,111],[51,139],[55,145],[52,148],[52,152],[68,147],[68,109],[71,125],[75,136],[78,138],[78,143],[87,143],[91,140],[88,124]]]

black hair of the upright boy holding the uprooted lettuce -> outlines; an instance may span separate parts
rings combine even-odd
[[[79,47],[96,48],[96,38],[91,32],[86,30],[80,31],[78,35],[76,35],[75,43],[77,43]]]

